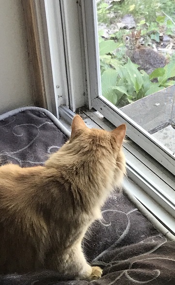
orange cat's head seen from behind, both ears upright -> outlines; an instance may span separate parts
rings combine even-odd
[[[126,125],[120,125],[112,131],[88,128],[79,115],[76,115],[72,122],[70,144],[79,152],[80,157],[84,154],[87,157],[96,157],[110,161],[109,165],[114,166],[114,181],[116,186],[120,185],[123,176],[126,174],[125,156],[122,144],[126,135]],[[107,170],[108,171],[108,170]]]

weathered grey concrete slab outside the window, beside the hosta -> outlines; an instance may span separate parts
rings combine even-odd
[[[175,153],[175,86],[140,99],[121,110]]]

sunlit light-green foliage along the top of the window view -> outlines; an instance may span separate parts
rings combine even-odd
[[[165,5],[166,3],[166,5]],[[131,14],[136,21],[136,30],[142,29],[145,45],[152,45],[151,40],[159,43],[159,36],[163,34],[175,35],[175,1],[172,0],[125,0],[119,3],[111,1],[110,4],[103,0],[97,1],[98,22],[106,23],[108,29],[115,25],[126,14]],[[156,21],[155,21],[156,19]],[[110,35],[108,39],[117,39],[123,42],[123,35],[130,33],[128,30],[119,30]]]

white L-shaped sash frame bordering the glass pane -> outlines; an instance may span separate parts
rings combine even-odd
[[[175,175],[175,154],[101,95],[96,1],[83,0],[82,13],[88,54],[90,106],[113,125],[127,124],[127,136]]]

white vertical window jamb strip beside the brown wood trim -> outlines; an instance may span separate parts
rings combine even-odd
[[[37,20],[36,41],[41,53],[47,108],[59,118],[58,107],[63,104],[69,106],[69,102],[66,68],[62,56],[64,43],[61,23],[58,25],[56,2],[33,1],[33,6]]]

